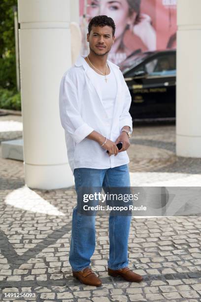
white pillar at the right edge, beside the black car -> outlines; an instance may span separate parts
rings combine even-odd
[[[201,0],[177,0],[176,154],[201,157]]]

